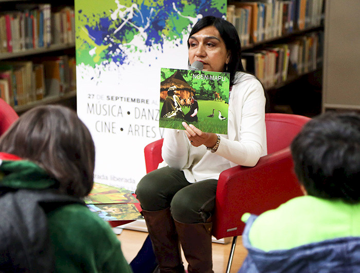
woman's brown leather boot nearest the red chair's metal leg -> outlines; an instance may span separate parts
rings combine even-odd
[[[213,273],[211,228],[212,223],[185,224],[174,220],[189,273]]]

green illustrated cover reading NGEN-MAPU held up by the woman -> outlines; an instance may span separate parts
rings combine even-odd
[[[159,127],[227,134],[229,73],[161,68]]]

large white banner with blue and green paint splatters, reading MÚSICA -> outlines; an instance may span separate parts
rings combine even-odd
[[[187,69],[187,39],[225,0],[76,0],[77,111],[96,146],[94,181],[135,190],[159,128],[160,68]]]

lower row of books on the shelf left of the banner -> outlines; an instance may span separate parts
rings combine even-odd
[[[75,57],[61,55],[0,62],[0,97],[11,106],[60,96],[75,88]]]

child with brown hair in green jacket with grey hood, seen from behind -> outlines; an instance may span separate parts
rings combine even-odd
[[[0,138],[0,271],[132,272],[110,225],[83,203],[95,147],[75,111],[35,107]]]

